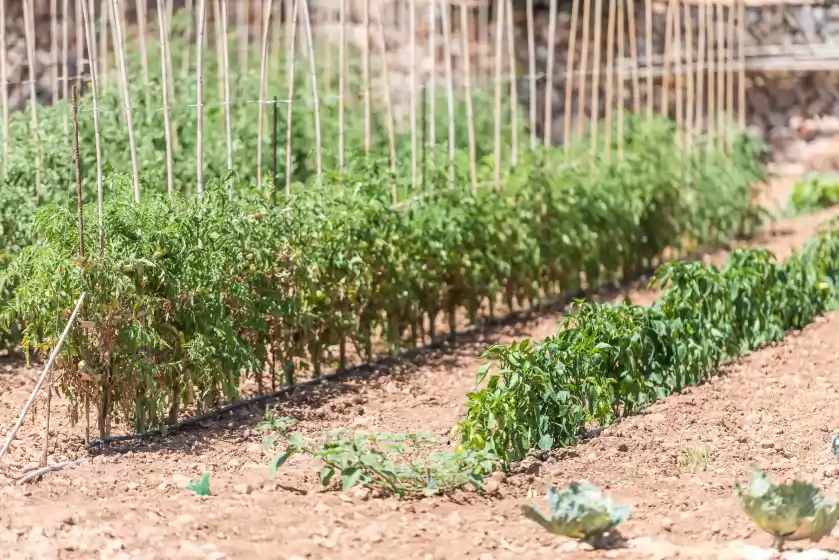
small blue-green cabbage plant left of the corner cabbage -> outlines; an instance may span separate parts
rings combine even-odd
[[[543,515],[526,504],[522,513],[554,535],[597,542],[605,533],[626,521],[630,506],[614,505],[594,485],[572,482],[562,491],[548,484],[548,512]]]

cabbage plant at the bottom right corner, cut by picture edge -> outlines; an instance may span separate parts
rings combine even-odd
[[[744,492],[740,483],[735,491],[746,515],[774,538],[779,550],[785,541],[809,539],[818,542],[830,534],[839,519],[839,504],[823,497],[807,482],[774,485],[757,468]]]

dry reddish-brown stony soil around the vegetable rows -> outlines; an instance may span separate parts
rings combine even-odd
[[[785,222],[752,244],[784,257],[836,214]],[[708,258],[721,262],[725,254]],[[655,297],[639,289],[627,295],[636,303]],[[300,391],[281,403],[282,413],[310,432],[349,427],[445,436],[474,388],[482,363],[477,356],[486,345],[542,338],[555,331],[559,317],[489,331],[387,375]],[[751,464],[776,478],[812,475],[828,493],[839,493],[839,463],[828,451],[839,431],[836,348],[839,313],[591,442],[531,461],[487,497],[463,493],[398,502],[326,493],[305,460],[269,481],[254,430],[261,418],[256,409],[18,486],[14,480],[41,457],[39,414],[0,466],[0,558],[758,558],[760,551],[731,544],[769,544],[732,499],[734,479],[744,480]],[[0,362],[4,432],[35,376],[32,369]],[[55,401],[54,418],[66,407]],[[83,456],[80,427],[60,421],[52,439],[51,462]],[[679,468],[680,456],[701,456],[706,449],[707,464],[697,461],[695,473]],[[179,488],[205,470],[212,473],[212,497]],[[519,506],[528,493],[543,494],[546,478],[555,484],[586,478],[632,504],[622,531],[627,546],[581,551],[524,520]],[[822,545],[836,547],[839,540]]]

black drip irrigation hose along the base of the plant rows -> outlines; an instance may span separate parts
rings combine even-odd
[[[732,241],[735,241],[735,240],[732,240]],[[705,248],[698,249],[698,250],[696,250],[692,253],[689,253],[683,259],[680,259],[680,260],[695,261],[695,260],[700,259],[703,254],[706,254],[709,251],[724,250],[724,249],[730,249],[730,248],[731,248],[731,243],[723,243],[723,244],[721,244],[719,246],[716,246],[716,247],[705,247]],[[639,270],[638,272],[630,275],[627,278],[622,278],[620,280],[620,282],[618,282],[615,285],[600,286],[600,287],[594,288],[594,289],[579,289],[572,294],[559,296],[559,297],[557,297],[553,300],[547,300],[547,301],[545,301],[543,303],[540,303],[539,305],[537,305],[533,308],[523,309],[523,310],[520,310],[520,311],[513,311],[511,313],[508,313],[508,314],[504,315],[503,317],[489,317],[489,318],[486,318],[482,321],[482,324],[480,324],[480,325],[478,325],[478,324],[470,325],[470,326],[466,327],[465,329],[463,329],[461,331],[455,331],[453,333],[446,333],[444,335],[441,335],[441,336],[437,337],[436,340],[433,340],[426,345],[407,350],[407,351],[403,352],[402,354],[400,354],[399,356],[385,356],[385,357],[379,358],[377,360],[373,360],[372,362],[367,362],[367,363],[364,363],[364,364],[359,364],[357,366],[352,366],[352,367],[349,367],[349,368],[346,368],[346,369],[343,369],[343,370],[339,370],[339,371],[324,375],[322,377],[318,377],[318,378],[315,378],[315,379],[309,379],[309,380],[303,381],[301,383],[295,383],[294,385],[289,385],[287,387],[283,387],[282,389],[280,389],[278,391],[275,391],[273,393],[267,393],[265,395],[259,395],[257,397],[246,399],[244,401],[238,401],[238,402],[235,402],[235,403],[231,403],[231,404],[225,405],[221,408],[218,408],[214,411],[207,412],[207,413],[201,414],[199,416],[193,416],[192,418],[187,418],[186,420],[184,420],[182,422],[178,422],[177,424],[174,424],[172,426],[168,426],[165,429],[166,435],[175,433],[175,432],[180,431],[184,428],[189,428],[189,427],[195,426],[195,425],[197,425],[201,422],[205,422],[207,420],[212,420],[212,419],[217,418],[218,416],[221,416],[222,414],[225,414],[227,412],[231,412],[231,411],[234,411],[234,410],[239,410],[239,409],[242,409],[242,408],[246,408],[248,406],[255,405],[255,404],[263,404],[263,403],[270,402],[270,401],[273,401],[273,400],[278,400],[281,397],[284,397],[286,395],[290,395],[291,393],[293,393],[297,389],[314,387],[314,386],[317,386],[321,383],[326,383],[326,382],[330,382],[330,381],[337,381],[337,380],[340,380],[340,379],[350,378],[350,377],[358,375],[358,374],[360,374],[364,371],[376,370],[376,369],[379,369],[379,368],[382,368],[382,367],[386,367],[388,365],[392,365],[392,364],[396,363],[397,361],[410,361],[411,358],[413,358],[415,356],[418,356],[418,355],[420,355],[424,352],[428,352],[430,350],[435,350],[435,349],[442,348],[446,344],[446,342],[454,341],[454,339],[458,336],[461,336],[461,337],[462,336],[467,336],[467,335],[476,334],[476,333],[479,333],[479,332],[484,332],[487,329],[492,328],[492,327],[507,326],[507,325],[510,325],[510,324],[514,324],[514,323],[517,323],[517,322],[521,321],[524,317],[528,317],[528,316],[532,317],[532,316],[534,316],[536,314],[539,314],[539,313],[545,313],[545,312],[549,312],[549,311],[552,311],[552,310],[563,309],[564,307],[566,307],[570,302],[574,301],[575,299],[579,299],[579,298],[585,297],[587,295],[591,295],[591,294],[599,293],[599,292],[604,292],[604,291],[608,292],[608,290],[616,290],[616,289],[625,288],[629,284],[631,284],[632,282],[634,282],[636,280],[639,280],[639,279],[641,279],[645,276],[651,275],[653,272],[655,272],[655,270],[658,268],[658,266],[659,265],[653,265],[653,266],[645,267],[644,269]],[[633,413],[631,413],[627,416],[620,416],[616,419],[616,421],[614,423],[610,423],[606,426],[601,426],[601,427],[589,430],[589,431],[585,432],[584,434],[581,434],[581,435],[577,436],[575,439],[577,441],[583,441],[583,440],[586,440],[586,439],[591,439],[593,437],[596,437],[600,432],[602,432],[606,428],[609,428],[609,427],[617,424],[618,422],[620,422],[621,420],[623,420],[625,418],[628,418],[630,416],[638,414],[641,411],[645,410],[646,408],[647,407],[636,410],[636,411],[634,411]],[[155,437],[163,437],[163,436],[164,436],[164,430],[158,428],[158,429],[149,430],[147,432],[142,432],[142,433],[138,433],[138,434],[128,434],[128,435],[123,435],[123,436],[108,436],[108,437],[104,437],[104,438],[93,438],[93,439],[91,439],[90,441],[87,442],[87,444],[85,445],[85,449],[90,450],[90,449],[93,449],[95,447],[103,447],[103,446],[109,445],[111,443],[122,443],[122,442],[126,442],[126,441],[147,440],[147,439],[152,439],[152,438],[155,438]]]

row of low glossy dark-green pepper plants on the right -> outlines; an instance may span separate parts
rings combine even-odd
[[[757,249],[734,251],[722,268],[667,263],[651,307],[577,302],[556,335],[487,350],[477,379],[486,386],[467,395],[459,423],[462,445],[505,465],[570,445],[812,322],[835,307],[837,280],[834,224],[784,262]]]

